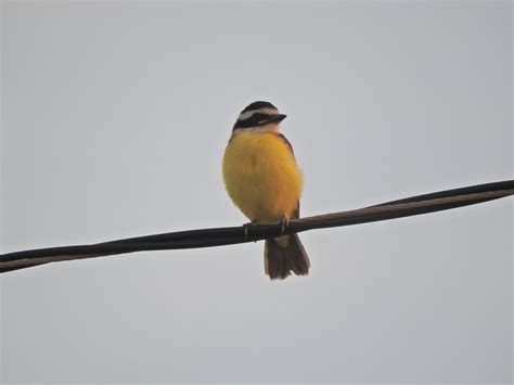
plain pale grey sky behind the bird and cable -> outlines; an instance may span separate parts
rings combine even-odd
[[[512,3],[2,1],[1,252],[237,226],[221,157],[275,104],[304,216],[512,179]],[[512,198],[1,275],[16,382],[512,380]]]

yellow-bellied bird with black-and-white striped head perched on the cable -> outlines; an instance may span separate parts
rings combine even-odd
[[[304,175],[279,129],[285,118],[270,102],[257,101],[240,113],[232,128],[222,161],[223,181],[249,226],[282,223],[284,229],[288,220],[299,218]],[[284,280],[292,272],[307,275],[309,268],[296,233],[265,241],[265,272],[271,280]]]

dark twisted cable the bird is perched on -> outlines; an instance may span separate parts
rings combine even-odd
[[[291,220],[285,229],[282,229],[281,224],[246,227],[246,231],[244,227],[200,229],[130,238],[92,245],[22,251],[0,255],[0,272],[61,260],[97,258],[143,251],[213,247],[255,242],[281,234],[313,229],[352,226],[447,210],[513,194],[514,181],[509,180],[416,195],[355,210],[304,217]]]

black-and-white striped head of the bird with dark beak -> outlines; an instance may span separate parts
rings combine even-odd
[[[279,114],[279,110],[269,102],[254,102],[247,105],[235,120],[233,131],[236,130],[262,130],[278,131],[279,123],[286,115]]]

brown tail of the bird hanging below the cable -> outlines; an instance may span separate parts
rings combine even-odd
[[[309,273],[309,257],[297,234],[266,240],[265,270],[272,280],[283,280],[293,271],[296,275]]]

